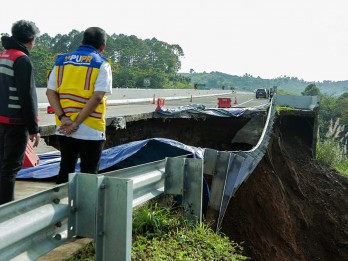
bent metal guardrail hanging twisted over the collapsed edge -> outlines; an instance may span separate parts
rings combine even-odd
[[[205,149],[204,174],[212,175],[211,198],[206,219],[219,231],[229,201],[253,172],[266,153],[276,112],[276,95],[268,108],[267,119],[256,146],[250,151]]]

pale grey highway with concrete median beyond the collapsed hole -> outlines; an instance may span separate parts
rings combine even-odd
[[[55,124],[53,114],[47,114],[45,89],[38,89],[40,126]],[[230,90],[147,90],[114,89],[108,96],[107,117],[122,117],[153,112],[158,99],[164,99],[164,107],[176,108],[189,104],[202,104],[207,108],[217,108],[218,98],[230,98],[232,107],[253,107],[268,102],[267,99],[255,99],[252,92],[231,92]]]

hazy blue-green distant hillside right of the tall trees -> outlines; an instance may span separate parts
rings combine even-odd
[[[323,82],[306,82],[297,77],[278,77],[276,79],[262,79],[245,74],[244,76],[230,75],[221,72],[210,73],[180,73],[191,79],[191,84],[205,84],[207,88],[215,89],[222,88],[230,89],[231,87],[238,90],[253,91],[257,88],[271,88],[277,86],[278,90],[284,90],[288,93],[301,94],[301,92],[311,83],[320,89],[322,93],[340,96],[344,92],[348,92],[347,81],[323,81]]]

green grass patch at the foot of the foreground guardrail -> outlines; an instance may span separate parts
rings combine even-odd
[[[133,212],[132,260],[247,260],[243,248],[207,224],[192,224],[180,209],[148,203]],[[89,244],[69,260],[94,260]]]

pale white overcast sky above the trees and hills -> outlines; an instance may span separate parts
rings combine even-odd
[[[8,9],[6,9],[8,8]],[[181,72],[348,80],[347,0],[16,0],[0,33],[31,20],[51,36],[99,26],[180,45]]]

